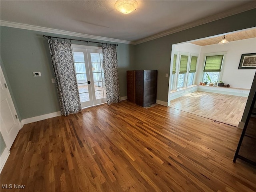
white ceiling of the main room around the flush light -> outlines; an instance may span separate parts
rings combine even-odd
[[[92,36],[140,42],[175,29],[190,28],[256,7],[255,1],[139,0],[131,14],[115,10],[116,1],[0,1],[4,21]],[[169,33],[170,34],[170,33]]]

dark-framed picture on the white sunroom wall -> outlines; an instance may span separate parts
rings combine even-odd
[[[256,69],[256,53],[242,54],[238,69]]]

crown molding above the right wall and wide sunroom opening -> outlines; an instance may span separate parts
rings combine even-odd
[[[189,29],[189,28],[193,28],[193,27],[196,27],[196,26],[199,26],[199,25],[202,25],[202,24],[206,24],[206,23],[209,23],[209,22],[212,22],[212,21],[216,21],[216,20],[228,17],[228,16],[238,14],[238,13],[242,13],[242,12],[254,9],[254,8],[256,8],[255,1],[249,2],[249,3],[244,4],[243,6],[240,6],[238,8],[230,9],[226,12],[222,12],[222,13],[216,14],[214,16],[209,16],[209,17],[203,18],[201,20],[197,20],[195,22],[191,22],[191,23],[188,23],[186,25],[182,25],[182,26],[179,26],[177,28],[173,28],[171,30],[168,30],[168,31],[165,31],[165,32],[162,32],[162,33],[159,33],[159,34],[156,34],[156,35],[153,35],[153,36],[150,36],[150,37],[138,40],[138,41],[135,41],[135,45],[140,44],[140,43],[144,43],[144,42],[147,42],[147,41],[151,41],[151,40],[154,40],[154,39],[157,39],[157,38],[160,38],[160,37],[164,37],[164,36],[176,33],[176,32],[180,32],[180,31],[183,31],[183,30],[186,30],[186,29]]]

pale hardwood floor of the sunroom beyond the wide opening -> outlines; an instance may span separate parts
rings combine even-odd
[[[238,126],[247,97],[195,91],[171,101],[171,108]]]

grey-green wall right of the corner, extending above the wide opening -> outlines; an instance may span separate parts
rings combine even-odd
[[[166,78],[165,74],[170,73],[172,44],[254,26],[256,26],[256,9],[138,44],[135,47],[134,68],[158,70],[157,99],[167,102],[169,78]]]

